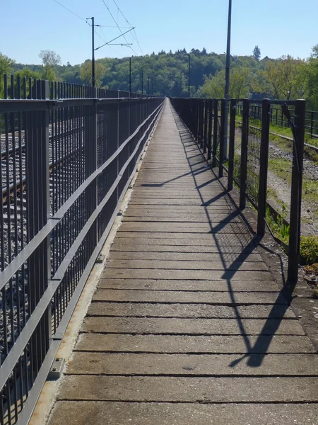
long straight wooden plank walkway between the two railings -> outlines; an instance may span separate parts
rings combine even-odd
[[[310,339],[167,101],[49,424],[317,425],[317,383]]]

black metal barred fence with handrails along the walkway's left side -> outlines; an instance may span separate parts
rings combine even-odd
[[[88,86],[11,79],[5,87],[1,425],[28,423],[163,107],[163,98]]]

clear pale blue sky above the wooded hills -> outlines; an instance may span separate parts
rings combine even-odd
[[[128,24],[114,0],[104,0],[119,26]],[[129,23],[136,26],[136,53],[175,52],[185,47],[223,53],[226,49],[228,0],[115,0]],[[82,18],[95,16],[95,46],[119,35],[102,0],[59,0]],[[81,63],[91,56],[91,29],[54,0],[7,1],[2,8],[0,52],[16,62],[40,63],[40,50],[54,50],[61,62]],[[4,14],[5,11],[5,14]],[[232,0],[232,55],[309,57],[318,44],[318,0]],[[126,28],[122,28],[124,32]],[[119,42],[120,39],[119,39]],[[106,46],[96,57],[134,55],[129,47]]]

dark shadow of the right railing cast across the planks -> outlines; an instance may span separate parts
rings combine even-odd
[[[189,161],[190,158],[188,157],[187,152],[192,152],[194,149],[198,149],[198,147],[197,147],[196,143],[194,142],[192,136],[189,135],[188,130],[182,130],[182,129],[184,129],[184,125],[181,122],[181,120],[179,120],[179,117],[177,115],[175,115],[175,113],[174,113],[174,116],[175,116],[177,128],[179,130],[180,139],[181,139],[182,145],[184,147],[184,153],[186,154],[189,167],[190,167],[190,169],[192,169],[193,164],[190,163],[190,161]],[[192,147],[192,145],[194,146],[194,149],[186,150],[187,147]],[[204,158],[204,155],[201,154],[201,152],[198,155],[195,155],[195,157],[197,157],[199,155],[201,155],[201,158],[204,159],[204,162],[206,162],[206,159]],[[211,172],[211,169],[208,168],[208,171]],[[282,274],[283,280],[284,280],[283,261],[281,259],[281,256],[278,253],[276,253],[276,252],[272,251],[271,249],[269,249],[268,247],[264,246],[264,244],[261,244],[261,238],[257,237],[257,235],[254,234],[254,231],[253,231],[251,225],[249,225],[249,222],[247,222],[244,215],[242,215],[240,208],[237,207],[235,200],[232,198],[232,196],[230,196],[230,193],[228,193],[228,191],[226,191],[225,188],[223,188],[223,191],[221,191],[217,196],[215,196],[214,198],[211,198],[211,200],[208,200],[208,201],[204,200],[202,193],[200,191],[201,188],[206,187],[209,183],[213,183],[215,181],[218,181],[218,179],[213,178],[213,179],[211,179],[211,181],[208,181],[208,182],[204,183],[203,185],[198,185],[196,183],[196,175],[195,175],[196,172],[192,171],[190,174],[192,174],[192,176],[194,178],[196,189],[197,189],[199,196],[201,198],[201,201],[202,201],[202,206],[204,206],[204,210],[206,212],[206,217],[208,218],[208,223],[211,227],[211,232],[210,232],[211,237],[213,237],[213,239],[216,243],[216,246],[218,247],[220,258],[221,258],[221,261],[222,261],[224,269],[225,269],[225,272],[223,273],[223,276],[221,278],[226,280],[226,282],[228,284],[228,291],[229,291],[229,295],[230,295],[230,300],[231,300],[231,303],[232,303],[233,310],[235,311],[235,317],[237,319],[237,324],[240,328],[241,335],[242,335],[242,337],[245,341],[245,346],[247,348],[247,353],[245,353],[244,355],[237,358],[237,360],[232,361],[232,363],[230,363],[230,367],[234,368],[235,365],[237,365],[238,363],[243,361],[245,358],[248,358],[247,366],[249,366],[251,368],[258,368],[258,367],[261,366],[261,363],[264,361],[264,356],[266,356],[266,353],[269,349],[271,341],[272,341],[273,337],[275,336],[275,334],[278,330],[278,327],[280,326],[281,321],[283,320],[283,318],[285,316],[285,312],[288,310],[288,307],[290,306],[290,302],[293,300],[293,291],[295,289],[295,284],[284,285],[283,289],[278,293],[277,298],[276,298],[276,300],[273,303],[273,306],[271,308],[271,312],[269,312],[269,315],[266,318],[266,322],[264,324],[264,327],[261,329],[261,332],[259,333],[259,335],[257,337],[257,341],[254,343],[254,346],[252,346],[251,341],[249,340],[249,335],[247,334],[247,331],[245,330],[245,326],[244,326],[244,323],[242,321],[242,317],[240,315],[239,308],[237,307],[237,303],[235,302],[235,290],[233,290],[233,288],[232,288],[231,280],[232,280],[233,276],[235,276],[235,273],[237,273],[237,271],[240,270],[240,266],[242,265],[242,263],[245,262],[246,253],[250,252],[251,249],[257,248],[257,246],[261,246],[262,249],[266,249],[266,251],[269,251],[271,254],[275,254],[278,257],[279,262],[280,262],[280,266],[281,266],[281,274]],[[235,210],[230,212],[230,214],[227,217],[228,220],[226,220],[226,221],[223,220],[223,222],[220,222],[220,223],[218,223],[218,225],[213,227],[212,222],[211,222],[211,218],[208,214],[208,210],[207,210],[206,207],[208,205],[212,205],[214,202],[216,202],[216,200],[221,199],[221,198],[227,199],[232,204],[232,206],[234,206]],[[220,232],[221,229],[223,229],[223,227],[225,227],[226,225],[229,225],[230,222],[235,217],[240,217],[242,219],[241,225],[245,226],[245,228],[247,229],[247,234],[250,235],[250,239],[246,239],[245,246],[244,246],[244,244],[242,244],[242,241],[240,242],[242,244],[242,251],[240,252],[240,254],[237,255],[235,260],[232,261],[232,263],[227,266],[226,260],[224,258],[224,254],[222,253],[222,249],[220,247],[220,244],[218,242],[218,238],[216,237],[216,235],[218,234],[218,232]],[[226,234],[225,234],[225,237],[226,237]],[[237,265],[237,270],[230,270],[231,266],[233,266],[234,263],[235,263],[235,265]],[[285,283],[285,280],[284,280],[284,283]],[[286,301],[285,304],[282,303],[282,300]],[[279,314],[278,314],[278,311],[279,311]]]

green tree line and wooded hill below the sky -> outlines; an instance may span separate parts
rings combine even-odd
[[[225,53],[202,50],[161,50],[158,54],[131,57],[131,91],[162,96],[187,96],[189,55],[190,94],[222,98],[225,81]],[[91,61],[61,65],[57,53],[44,50],[42,64],[18,64],[0,53],[0,96],[3,74],[91,84]],[[318,110],[318,45],[306,60],[284,55],[264,57],[255,46],[251,55],[231,56],[230,97],[232,98],[306,98],[308,109]],[[103,58],[95,64],[96,85],[111,90],[129,90],[129,57]]]

